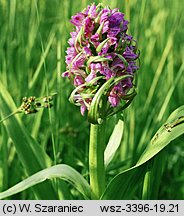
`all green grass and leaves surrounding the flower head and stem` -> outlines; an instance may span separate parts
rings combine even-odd
[[[106,143],[116,127],[104,156],[106,182],[112,184],[102,198],[184,199],[183,107],[170,116],[184,105],[184,5],[179,0],[0,0],[0,119],[15,112],[23,97],[57,92],[51,109],[0,123],[0,192],[40,171],[8,199],[90,198],[89,123],[69,102],[73,89],[61,74],[70,17],[92,2],[125,13],[141,53],[137,96],[123,116],[106,122]],[[48,168],[56,164],[67,165]]]

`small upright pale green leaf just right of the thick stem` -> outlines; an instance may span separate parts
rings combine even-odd
[[[109,165],[109,163],[114,158],[118,147],[121,144],[121,139],[123,136],[124,122],[120,119],[118,123],[115,125],[114,130],[111,134],[107,147],[105,149],[104,162],[105,167]]]

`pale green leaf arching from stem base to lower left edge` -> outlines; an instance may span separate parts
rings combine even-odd
[[[27,188],[45,181],[46,179],[52,178],[60,178],[71,183],[81,194],[84,195],[86,199],[90,199],[91,189],[88,182],[75,169],[65,164],[55,165],[33,174],[8,190],[1,192],[0,199],[24,191]],[[48,190],[46,189],[44,192],[47,194]]]

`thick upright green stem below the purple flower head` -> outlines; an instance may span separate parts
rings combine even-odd
[[[105,123],[91,124],[89,143],[89,172],[90,186],[94,195],[92,199],[99,199],[105,189]]]

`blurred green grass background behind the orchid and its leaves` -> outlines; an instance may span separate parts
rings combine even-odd
[[[15,104],[24,96],[57,92],[48,110],[21,115],[30,134],[57,163],[66,163],[87,176],[89,124],[70,104],[73,89],[61,77],[72,15],[89,3],[118,7],[130,21],[129,33],[138,41],[140,70],[133,104],[125,111],[125,132],[114,164],[134,164],[169,114],[184,104],[184,4],[179,0],[0,0],[0,81]],[[0,90],[1,91],[1,90]],[[1,109],[1,104],[0,104]],[[107,137],[116,117],[109,120]],[[21,140],[20,140],[21,142]],[[55,145],[55,155],[53,152]],[[22,143],[24,145],[24,143]],[[166,150],[159,199],[184,199],[184,137]],[[0,125],[0,191],[25,178],[11,139]],[[30,198],[29,190],[14,199]],[[135,197],[139,198],[139,197]]]

